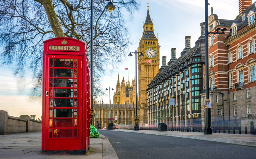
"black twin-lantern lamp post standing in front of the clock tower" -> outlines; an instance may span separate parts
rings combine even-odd
[[[139,118],[137,116],[137,50],[135,49],[135,52],[130,52],[128,56],[132,56],[132,53],[135,53],[135,107],[136,107],[136,115],[134,117],[134,128],[133,130],[138,131],[139,130]],[[142,58],[144,55],[142,52],[140,53],[140,57]]]

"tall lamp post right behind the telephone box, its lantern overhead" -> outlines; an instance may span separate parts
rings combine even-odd
[[[104,1],[109,1],[108,5],[105,7],[106,9],[108,9],[109,12],[111,12],[112,10],[114,10],[116,7],[113,5],[113,2],[111,2],[111,0],[104,0]],[[90,112],[90,122],[91,124],[94,126],[94,116],[95,113],[93,112],[93,87],[92,87],[92,60],[93,60],[93,37],[92,37],[92,13],[93,13],[93,0],[91,0],[91,48],[90,48],[90,53],[91,53],[91,78],[90,78],[90,82],[91,82],[91,90],[90,90],[90,94],[91,94],[91,112]]]

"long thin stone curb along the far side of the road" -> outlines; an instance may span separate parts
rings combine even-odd
[[[113,131],[113,130],[110,130],[110,131]],[[120,130],[114,130],[114,131],[120,131]],[[142,131],[125,131],[125,130],[122,130],[122,131],[123,132],[131,132],[131,133],[162,135],[162,136],[172,136],[172,137],[178,137],[178,138],[187,138],[187,139],[223,142],[223,143],[228,143],[228,144],[236,144],[236,145],[244,145],[244,146],[256,147],[256,142],[250,142],[250,141],[240,141],[240,140],[232,140],[232,139],[219,139],[219,138],[207,138],[207,137],[201,137],[201,136],[163,134],[163,133],[154,133],[154,132],[150,132],[149,133],[149,132],[142,132]]]

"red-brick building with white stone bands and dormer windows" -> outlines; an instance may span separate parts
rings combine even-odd
[[[234,20],[220,19],[211,9],[209,32],[227,29],[226,34],[209,35],[212,125],[241,126],[243,132],[256,122],[255,14],[256,2],[251,0],[239,0],[239,15]],[[204,92],[201,98],[203,105]]]

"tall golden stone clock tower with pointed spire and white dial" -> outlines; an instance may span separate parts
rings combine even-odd
[[[138,117],[140,126],[148,123],[148,95],[147,85],[156,76],[159,69],[159,41],[154,33],[154,24],[147,11],[147,17],[143,25],[143,33],[138,46],[138,69],[139,69],[139,100],[138,100]],[[139,56],[142,52],[144,57]],[[151,61],[150,61],[151,60]]]

